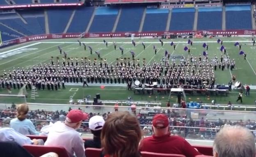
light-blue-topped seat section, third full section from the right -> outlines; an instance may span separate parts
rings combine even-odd
[[[194,8],[173,9],[169,31],[189,31],[194,26]]]

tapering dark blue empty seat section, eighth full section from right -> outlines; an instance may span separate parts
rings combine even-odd
[[[73,10],[58,9],[48,10],[48,22],[50,33],[63,33]]]

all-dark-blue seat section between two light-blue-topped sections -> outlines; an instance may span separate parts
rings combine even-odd
[[[116,32],[139,31],[144,7],[123,7],[117,24]]]

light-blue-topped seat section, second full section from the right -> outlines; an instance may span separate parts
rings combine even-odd
[[[197,30],[222,29],[222,8],[199,8]]]

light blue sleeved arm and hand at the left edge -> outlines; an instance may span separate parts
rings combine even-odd
[[[16,142],[23,146],[24,144],[43,145],[43,140],[33,139],[16,132],[13,128],[0,128],[0,142]]]

